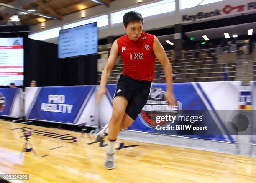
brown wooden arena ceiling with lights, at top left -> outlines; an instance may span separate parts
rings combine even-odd
[[[19,15],[21,25],[36,25],[51,19],[62,20],[65,15],[97,5],[109,7],[111,1],[114,0],[0,0],[0,25],[4,25],[13,15]],[[24,14],[22,10],[27,12]]]

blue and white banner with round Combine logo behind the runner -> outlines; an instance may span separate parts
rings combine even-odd
[[[240,82],[173,83],[176,106],[164,100],[166,84],[153,84],[148,102],[128,130],[182,135],[210,140],[236,141],[232,122],[239,111]],[[107,85],[99,113],[108,123],[116,85]],[[171,127],[172,123],[176,127]],[[186,125],[184,125],[186,124]]]

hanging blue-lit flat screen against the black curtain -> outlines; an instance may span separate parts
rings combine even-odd
[[[59,58],[91,55],[97,51],[97,22],[59,31]]]

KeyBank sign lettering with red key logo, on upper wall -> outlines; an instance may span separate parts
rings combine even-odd
[[[231,5],[225,5],[224,8],[221,10],[215,9],[211,12],[198,12],[196,15],[182,15],[182,22],[184,21],[196,21],[202,18],[209,18],[209,17],[215,17],[220,15],[229,14],[232,11],[236,12],[244,12],[247,10],[253,10],[256,9],[256,2],[248,3],[247,5],[239,5],[239,6],[231,6]]]

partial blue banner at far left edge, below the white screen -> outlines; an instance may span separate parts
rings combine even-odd
[[[0,115],[21,117],[21,88],[0,88]]]

